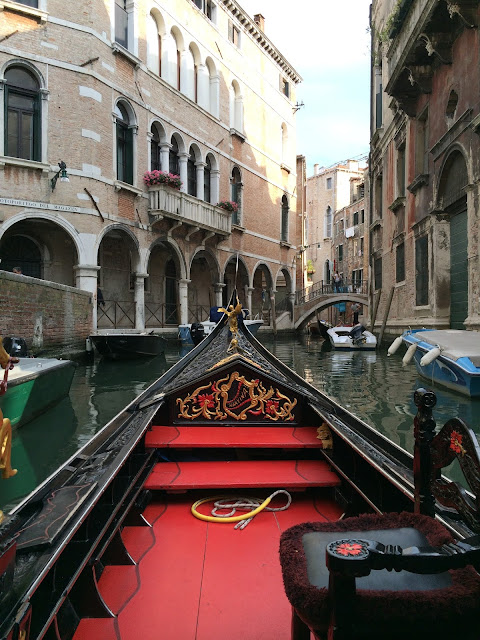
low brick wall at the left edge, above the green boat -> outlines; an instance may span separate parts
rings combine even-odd
[[[92,329],[90,294],[0,271],[0,336],[25,338],[34,354],[85,348]]]

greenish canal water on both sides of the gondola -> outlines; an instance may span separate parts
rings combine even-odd
[[[417,375],[413,363],[402,365],[403,347],[388,357],[388,344],[373,352],[340,352],[328,349],[320,338],[303,334],[277,339],[260,335],[260,339],[307,382],[410,452],[413,392],[420,386],[437,393],[434,416],[438,425],[458,416],[480,432],[480,400],[429,385]],[[79,364],[69,396],[14,432],[12,464],[18,473],[0,480],[0,508],[5,512],[13,508],[181,355],[181,347],[169,343],[165,355],[148,362],[95,357]],[[457,471],[453,469],[450,475],[456,477]]]

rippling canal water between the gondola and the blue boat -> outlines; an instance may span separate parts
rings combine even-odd
[[[458,416],[480,432],[480,400],[428,385],[418,376],[413,363],[403,366],[402,354],[387,357],[386,349],[335,351],[324,341],[310,336],[262,341],[307,382],[407,451],[413,451],[416,413],[413,393],[419,387],[433,388],[437,395],[434,412],[437,425]]]

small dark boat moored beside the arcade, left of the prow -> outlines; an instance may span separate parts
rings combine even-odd
[[[152,358],[165,352],[167,341],[156,333],[101,332],[90,336],[98,353],[114,360]]]

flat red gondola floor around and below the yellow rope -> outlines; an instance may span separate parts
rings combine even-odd
[[[140,528],[125,527],[122,536],[138,567],[107,567],[99,582],[104,599],[115,605],[118,635],[110,620],[108,625],[83,619],[73,640],[290,639],[280,534],[292,524],[324,519],[321,513],[337,514],[338,508],[326,497],[295,494],[286,511],[260,513],[243,531],[235,531],[233,524],[193,518],[194,500],[187,494],[170,496],[168,504],[152,503],[145,515],[157,519],[153,531],[142,528],[141,545],[136,542]],[[139,582],[132,595],[134,572]]]

